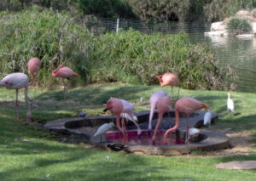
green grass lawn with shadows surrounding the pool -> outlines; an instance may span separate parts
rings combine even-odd
[[[109,97],[126,99],[135,110],[149,110],[148,99],[159,86],[121,84],[89,85],[73,88],[63,99],[60,90],[32,89],[29,97],[37,105],[32,109],[34,121],[45,123],[58,118],[74,117],[83,110],[89,116],[101,115]],[[177,91],[175,89],[174,91]],[[26,104],[20,91],[20,118],[25,121]],[[177,92],[174,92],[177,93]],[[226,111],[227,93],[222,91],[181,90],[181,96],[191,96],[207,103],[217,112],[219,121],[214,129],[231,128],[232,133],[247,132],[256,143],[256,94],[231,92],[236,114]],[[143,103],[139,102],[143,97]],[[52,133],[42,127],[15,121],[15,90],[0,89],[0,180],[255,180],[255,171],[217,170],[224,161],[256,160],[256,148],[245,156],[137,156],[108,150],[85,149],[82,144],[65,144],[52,139]]]

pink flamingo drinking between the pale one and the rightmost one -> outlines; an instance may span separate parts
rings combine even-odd
[[[169,112],[172,109],[172,99],[170,99],[167,96],[162,97],[157,101],[156,107],[157,107],[157,110],[158,110],[158,119],[157,119],[156,126],[154,128],[154,134],[153,134],[153,137],[152,137],[153,142],[156,139],[156,133],[157,133],[159,127],[160,127],[160,123],[162,122],[164,113]]]

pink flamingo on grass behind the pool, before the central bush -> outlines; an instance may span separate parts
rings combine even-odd
[[[163,75],[156,76],[156,78],[160,82],[160,86],[171,86],[172,87],[172,95],[173,95],[173,87],[178,86],[177,98],[179,96],[179,80],[176,74],[173,73],[165,73]]]

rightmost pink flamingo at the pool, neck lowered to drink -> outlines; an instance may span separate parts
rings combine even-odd
[[[178,99],[175,104],[175,125],[174,127],[167,129],[166,133],[164,135],[164,140],[166,139],[166,136],[168,133],[172,132],[172,130],[176,130],[179,126],[180,122],[180,113],[184,113],[186,115],[186,141],[185,143],[189,143],[189,115],[196,110],[201,109],[210,109],[210,107],[204,103],[201,103],[199,100],[194,98],[181,98]]]

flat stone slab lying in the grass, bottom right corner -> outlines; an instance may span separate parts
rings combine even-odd
[[[215,167],[226,170],[256,170],[256,161],[230,161],[218,163]]]

